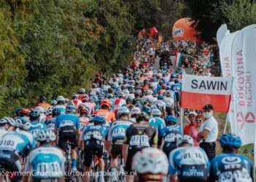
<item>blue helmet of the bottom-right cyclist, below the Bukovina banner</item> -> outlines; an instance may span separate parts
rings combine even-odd
[[[221,136],[219,142],[222,146],[234,146],[236,148],[240,147],[242,142],[240,137],[236,136],[233,133],[227,133]]]

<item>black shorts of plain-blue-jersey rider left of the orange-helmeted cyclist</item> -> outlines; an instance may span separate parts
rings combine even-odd
[[[78,143],[75,127],[61,127],[61,130],[59,131],[58,146],[63,151],[67,150],[67,141],[71,143],[71,149],[75,149],[75,146],[77,146]]]

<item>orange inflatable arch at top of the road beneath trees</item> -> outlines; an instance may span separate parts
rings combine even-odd
[[[197,37],[198,32],[195,31],[191,25],[194,23],[189,17],[181,18],[176,21],[173,25],[173,39],[174,40],[191,40],[191,41],[200,41]]]

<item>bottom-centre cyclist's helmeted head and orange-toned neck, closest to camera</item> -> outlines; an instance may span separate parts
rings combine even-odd
[[[159,149],[146,148],[132,158],[135,182],[163,181],[168,172],[168,159]]]

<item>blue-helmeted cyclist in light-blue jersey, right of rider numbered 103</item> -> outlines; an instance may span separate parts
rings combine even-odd
[[[40,130],[45,130],[47,128],[46,124],[39,122],[40,114],[37,111],[31,111],[29,113],[30,127],[29,132],[33,135],[34,138],[37,138],[37,133]]]

